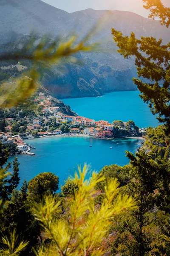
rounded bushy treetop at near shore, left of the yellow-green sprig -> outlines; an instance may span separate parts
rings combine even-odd
[[[51,194],[58,190],[59,178],[51,172],[40,173],[28,182],[31,196]]]

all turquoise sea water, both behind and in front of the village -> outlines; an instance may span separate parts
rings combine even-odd
[[[95,120],[133,120],[139,127],[157,126],[158,121],[150,109],[139,98],[138,91],[113,92],[97,98],[64,99],[71,109],[81,116]],[[77,164],[91,164],[97,172],[105,165],[129,163],[125,150],[135,152],[141,140],[97,140],[84,137],[59,137],[27,140],[36,149],[35,156],[19,155],[20,177],[31,180],[40,172],[53,172],[60,185],[68,175],[74,176]],[[89,148],[89,145],[92,145]],[[110,147],[113,147],[110,149]],[[9,160],[12,161],[14,157]]]

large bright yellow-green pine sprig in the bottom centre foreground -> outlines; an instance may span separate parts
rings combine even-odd
[[[71,198],[70,221],[65,219],[54,220],[54,212],[60,207],[55,197],[45,198],[45,204],[37,206],[34,210],[36,218],[41,222],[53,243],[51,246],[42,248],[37,255],[102,255],[104,248],[99,248],[113,217],[127,209],[133,209],[134,201],[126,196],[114,197],[118,194],[119,183],[111,179],[105,186],[105,200],[101,208],[96,212],[94,209],[94,186],[96,186],[96,174],[93,173],[90,180],[86,180],[88,169],[84,166],[76,173],[74,182],[78,186],[75,197]],[[98,181],[102,181],[100,178]],[[88,210],[88,216],[85,218]],[[44,252],[45,250],[45,252]]]

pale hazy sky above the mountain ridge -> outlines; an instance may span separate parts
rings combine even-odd
[[[143,6],[142,0],[43,0],[52,6],[67,12],[75,12],[83,9],[108,9],[136,12],[147,16],[148,12]]]

